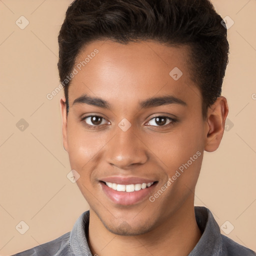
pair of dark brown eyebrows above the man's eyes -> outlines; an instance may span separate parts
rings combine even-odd
[[[78,103],[94,105],[101,108],[110,109],[110,105],[106,100],[102,98],[91,97],[87,94],[84,94],[73,101],[73,105]],[[186,102],[172,95],[165,95],[161,97],[151,97],[139,102],[139,106],[141,108],[156,107],[156,106],[167,105],[167,104],[180,104],[183,106],[187,106]]]

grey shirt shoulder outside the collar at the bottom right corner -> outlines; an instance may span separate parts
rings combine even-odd
[[[256,256],[256,253],[221,234],[223,256]]]

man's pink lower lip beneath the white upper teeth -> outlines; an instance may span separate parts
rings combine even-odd
[[[100,182],[100,184],[101,184],[102,190],[112,202],[116,204],[121,204],[121,205],[131,205],[131,204],[136,204],[144,200],[145,198],[148,198],[149,193],[155,186],[156,182],[150,185],[149,187],[140,189],[138,191],[133,191],[133,192],[116,191],[108,187],[103,182]]]

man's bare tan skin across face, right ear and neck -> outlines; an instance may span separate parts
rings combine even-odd
[[[99,50],[71,80],[60,100],[63,146],[70,166],[80,177],[77,185],[90,205],[89,246],[93,254],[187,255],[201,233],[194,216],[194,190],[203,151],[214,151],[221,141],[228,113],[226,98],[220,96],[202,118],[202,97],[190,78],[188,49],[148,40],[120,44],[93,41],[84,47],[75,63]],[[174,80],[169,72],[178,67],[183,75]],[[105,109],[73,101],[87,94],[101,98]],[[172,95],[186,105],[171,103],[141,108],[139,102]],[[94,129],[90,114],[103,119]],[[176,118],[176,122],[157,116]],[[127,131],[118,127],[126,118]],[[86,122],[85,122],[86,120]],[[157,181],[155,194],[197,151],[200,156],[155,199],[148,197],[133,205],[113,203],[102,191],[100,178],[136,176]]]

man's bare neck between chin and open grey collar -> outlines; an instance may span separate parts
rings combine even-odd
[[[166,221],[141,235],[123,236],[108,231],[90,210],[89,241],[92,255],[186,256],[201,237],[193,200],[183,204]]]

